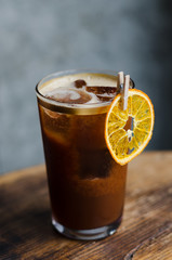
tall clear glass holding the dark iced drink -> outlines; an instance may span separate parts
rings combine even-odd
[[[97,239],[115,233],[122,219],[128,166],[107,150],[105,118],[110,101],[70,105],[49,100],[41,89],[74,74],[111,77],[114,72],[68,70],[52,74],[36,87],[52,224],[71,238]],[[131,87],[133,87],[131,81]],[[59,86],[61,87],[61,86]]]

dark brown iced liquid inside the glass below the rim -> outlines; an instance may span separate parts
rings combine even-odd
[[[51,113],[40,107],[54,219],[77,230],[115,222],[122,214],[127,166],[106,147],[105,114]]]

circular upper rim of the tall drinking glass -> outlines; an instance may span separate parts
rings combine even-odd
[[[41,94],[41,92],[39,91],[39,87],[41,87],[43,82],[47,82],[48,79],[53,79],[53,78],[58,78],[58,77],[75,75],[75,74],[84,74],[84,73],[97,74],[97,75],[100,74],[100,75],[107,75],[107,76],[118,75],[117,72],[114,72],[110,69],[95,69],[95,68],[89,68],[89,69],[79,68],[79,69],[68,69],[68,70],[52,73],[43,77],[36,84],[36,94],[37,94],[38,103],[50,110],[65,113],[65,114],[93,115],[93,114],[106,113],[113,101],[105,101],[102,103],[88,103],[88,104],[87,103],[85,104],[66,104],[66,103],[50,100],[45,98],[43,94]],[[133,89],[135,87],[135,83],[132,79],[130,79],[130,81],[131,81],[131,87]]]

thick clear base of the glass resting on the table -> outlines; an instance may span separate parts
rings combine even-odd
[[[119,218],[117,221],[115,221],[109,225],[105,225],[98,229],[71,230],[71,229],[65,227],[64,225],[59,224],[57,221],[52,219],[52,224],[57,232],[59,232],[61,234],[69,238],[80,239],[80,240],[94,240],[94,239],[101,239],[101,238],[105,238],[106,236],[113,235],[117,231],[120,223],[121,223],[121,218]]]

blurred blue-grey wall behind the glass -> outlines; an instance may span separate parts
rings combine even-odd
[[[147,150],[171,150],[171,5],[170,0],[1,0],[0,173],[43,162],[35,84],[70,68],[129,73],[155,104]]]

